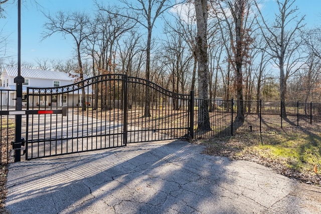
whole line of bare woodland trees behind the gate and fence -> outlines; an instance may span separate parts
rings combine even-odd
[[[269,19],[259,0],[93,4],[90,13],[44,14],[43,39],[72,38],[74,58],[36,59],[23,66],[81,76],[123,73],[177,93],[195,90],[205,99],[308,102],[321,96],[321,31],[305,27],[295,0],[275,1],[277,10]],[[15,62],[2,58],[0,64]]]

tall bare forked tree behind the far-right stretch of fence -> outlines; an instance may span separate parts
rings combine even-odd
[[[299,70],[299,47],[302,40],[299,36],[303,28],[302,18],[298,19],[298,8],[294,7],[295,0],[276,1],[278,14],[275,14],[275,22],[271,25],[263,18],[257,5],[261,21],[261,31],[268,46],[268,53],[280,70],[280,101],[284,103],[286,96],[286,82],[288,78]],[[293,27],[292,27],[293,26]],[[285,70],[284,70],[285,69]],[[286,118],[285,106],[282,105],[282,116]]]

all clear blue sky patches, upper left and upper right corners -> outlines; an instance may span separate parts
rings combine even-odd
[[[16,1],[17,2],[17,1]],[[66,39],[55,34],[41,41],[41,33],[45,18],[41,11],[54,15],[57,11],[85,11],[94,9],[92,0],[38,0],[41,7],[37,7],[32,0],[22,0],[22,61],[35,63],[36,59],[68,59],[72,56],[74,43],[71,38]],[[115,0],[104,1],[105,4],[114,4]],[[276,9],[275,0],[262,0],[264,7],[262,12],[274,15]],[[320,26],[321,1],[320,0],[296,0],[300,15],[305,15],[307,27]],[[0,19],[0,29],[10,35],[7,55],[17,58],[17,4],[6,4],[6,19]]]

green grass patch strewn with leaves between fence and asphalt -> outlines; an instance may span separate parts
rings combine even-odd
[[[303,174],[321,173],[320,127],[286,127],[269,133],[248,133],[213,138],[205,153],[229,156],[232,159],[255,159],[277,162]]]

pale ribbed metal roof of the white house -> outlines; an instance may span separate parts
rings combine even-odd
[[[18,75],[18,68],[15,67],[6,67],[6,71],[8,72],[9,76],[16,77]],[[65,73],[61,71],[45,71],[45,70],[39,70],[39,69],[21,69],[21,76],[24,78],[34,78],[34,79],[49,79],[49,80],[70,80],[74,81],[75,77],[72,77],[71,75],[78,75],[76,73]],[[84,78],[85,75],[84,75]]]

